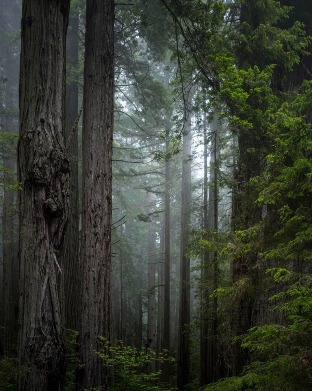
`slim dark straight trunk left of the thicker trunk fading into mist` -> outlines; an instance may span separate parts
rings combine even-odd
[[[168,134],[166,136],[166,152],[169,152],[170,122],[168,120]],[[165,241],[164,241],[164,326],[162,349],[170,352],[170,160],[166,159],[166,186],[165,186]],[[162,380],[169,383],[170,363],[165,361],[162,366]]]

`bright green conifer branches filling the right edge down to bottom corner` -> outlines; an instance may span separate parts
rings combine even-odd
[[[251,365],[240,377],[223,379],[207,390],[312,387],[312,127],[306,121],[311,88],[311,82],[304,82],[295,99],[271,116],[267,135],[272,153],[264,173],[250,181],[259,194],[256,203],[267,205],[269,212],[259,224],[236,231],[232,239],[235,256],[256,249],[262,256],[259,266],[269,266],[267,275],[273,277],[269,286],[275,292],[269,303],[278,322],[248,330],[241,347],[250,351]],[[233,296],[238,286],[234,288]]]

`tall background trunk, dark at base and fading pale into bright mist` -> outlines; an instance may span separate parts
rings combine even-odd
[[[182,152],[182,210],[181,210],[181,260],[180,260],[180,303],[178,329],[178,372],[179,389],[189,382],[190,369],[190,259],[189,226],[191,222],[191,113],[188,113],[183,135]]]

